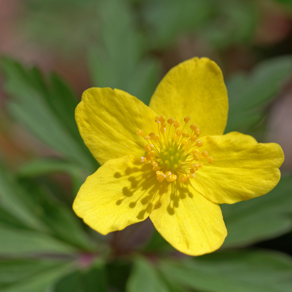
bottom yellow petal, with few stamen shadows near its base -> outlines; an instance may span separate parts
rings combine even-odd
[[[178,251],[200,256],[220,248],[227,230],[218,204],[175,181],[150,214],[157,231]]]

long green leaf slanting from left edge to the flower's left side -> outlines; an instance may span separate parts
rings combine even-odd
[[[13,97],[8,102],[11,115],[48,146],[89,173],[94,172],[96,165],[93,160],[88,158],[83,146],[74,140],[63,120],[58,119],[48,104],[47,100],[51,97],[39,71],[35,68],[25,70],[8,58],[2,58],[1,67],[5,77],[4,88]]]

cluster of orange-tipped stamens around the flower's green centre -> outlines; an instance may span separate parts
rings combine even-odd
[[[194,178],[195,172],[203,167],[199,160],[205,159],[208,163],[213,161],[213,157],[209,156],[207,151],[199,152],[196,149],[203,146],[203,141],[198,140],[201,130],[197,125],[190,125],[191,134],[184,132],[190,119],[189,116],[184,118],[185,125],[181,129],[179,121],[169,118],[166,122],[166,118],[161,115],[155,119],[160,136],[155,133],[144,135],[143,130],[137,131],[137,134],[148,142],[144,146],[147,154],[140,158],[140,162],[152,164],[159,182],[164,179],[172,182],[179,178],[180,183],[185,183],[189,178]],[[166,135],[167,124],[169,128]]]

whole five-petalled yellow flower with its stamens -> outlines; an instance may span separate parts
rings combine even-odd
[[[237,132],[223,75],[208,58],[172,68],[149,107],[111,88],[89,88],[75,116],[101,167],[88,176],[75,213],[101,234],[148,216],[177,250],[218,249],[227,235],[219,204],[266,194],[280,179],[281,147]]]

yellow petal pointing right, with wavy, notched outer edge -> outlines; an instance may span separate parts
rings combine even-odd
[[[190,180],[190,190],[197,190],[215,203],[233,204],[270,192],[280,179],[284,161],[280,145],[258,143],[238,132],[202,137],[202,150],[213,156]]]

